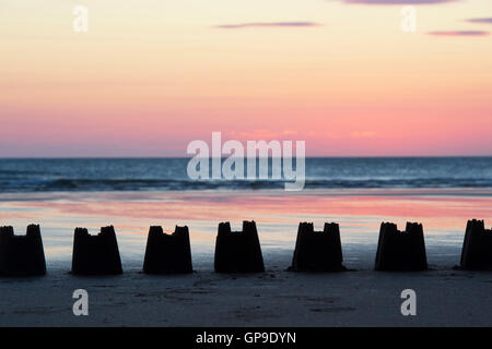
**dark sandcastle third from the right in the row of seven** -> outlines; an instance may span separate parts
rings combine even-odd
[[[343,255],[338,224],[325,224],[315,231],[312,222],[301,222],[295,242],[292,272],[341,272]]]

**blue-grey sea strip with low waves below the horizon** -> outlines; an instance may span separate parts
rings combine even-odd
[[[256,191],[284,188],[285,180],[190,179],[187,173],[189,160],[189,158],[0,159],[0,193]],[[270,174],[272,166],[272,160],[269,159]],[[492,188],[492,157],[305,159],[306,190],[396,188]]]

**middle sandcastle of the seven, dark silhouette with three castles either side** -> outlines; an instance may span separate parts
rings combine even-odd
[[[255,221],[243,221],[243,231],[231,231],[229,221],[219,225],[214,268],[216,273],[265,272]]]

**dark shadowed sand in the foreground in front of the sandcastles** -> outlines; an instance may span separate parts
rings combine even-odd
[[[274,265],[284,265],[289,257]],[[89,316],[72,313],[73,290],[89,292]],[[417,291],[417,316],[400,292]],[[491,326],[492,273],[147,276],[0,279],[1,326]]]

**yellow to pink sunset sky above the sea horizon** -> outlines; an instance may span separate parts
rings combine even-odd
[[[490,0],[0,0],[0,157],[492,155]]]

